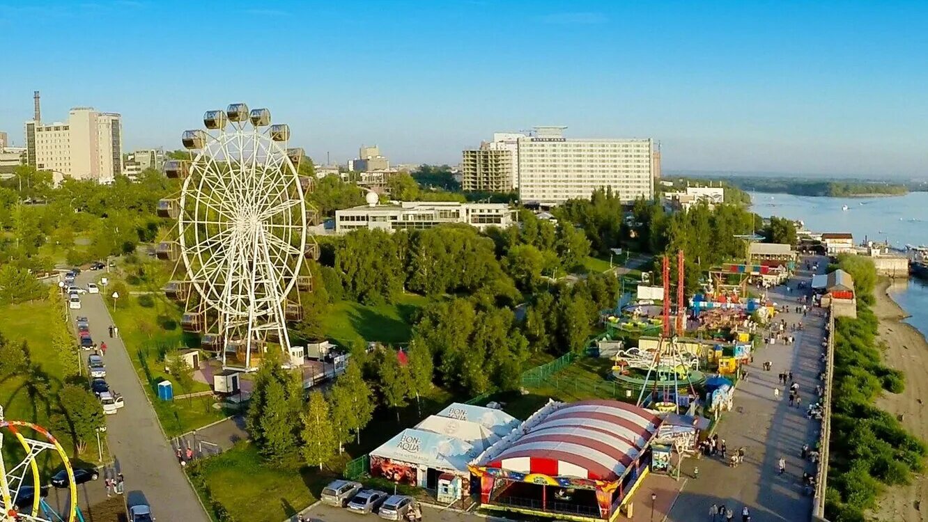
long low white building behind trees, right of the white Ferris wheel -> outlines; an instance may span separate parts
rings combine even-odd
[[[376,201],[376,199],[375,199]],[[389,205],[362,205],[335,210],[335,233],[367,228],[387,231],[424,229],[443,223],[468,223],[481,230],[508,227],[515,210],[505,203],[458,203],[458,201],[402,201]]]

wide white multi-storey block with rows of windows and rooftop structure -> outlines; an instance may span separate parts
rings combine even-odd
[[[568,139],[564,128],[535,127],[518,139],[523,203],[558,205],[599,188],[612,188],[625,202],[654,197],[651,138]]]

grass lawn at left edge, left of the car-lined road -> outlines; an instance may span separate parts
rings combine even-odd
[[[58,411],[58,393],[64,384],[61,379],[62,367],[58,354],[52,349],[48,337],[47,325],[61,321],[60,314],[53,307],[51,302],[45,300],[0,307],[0,318],[2,318],[0,333],[3,333],[7,342],[16,345],[24,340],[27,341],[32,361],[39,365],[48,381],[47,394],[36,394],[31,397],[26,376],[6,376],[0,380],[0,403],[3,404],[7,419],[28,421],[52,429],[53,435],[61,442],[72,459],[81,460],[81,457],[84,457],[87,462],[96,461],[96,442],[88,443],[86,452],[78,455],[71,435],[55,431],[50,426],[49,418]],[[28,438],[42,438],[29,430],[23,430],[23,433]],[[15,454],[14,452],[18,451],[19,447],[15,444],[4,445],[6,455]],[[50,453],[47,454],[50,455]],[[19,460],[15,462],[19,463]],[[10,462],[7,462],[7,465],[9,464]],[[44,464],[52,467],[60,465],[57,459]]]

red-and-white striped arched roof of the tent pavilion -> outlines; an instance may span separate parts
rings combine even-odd
[[[564,404],[483,465],[613,481],[625,474],[660,423],[648,410],[620,401]]]

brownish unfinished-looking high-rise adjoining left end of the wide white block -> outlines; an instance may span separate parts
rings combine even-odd
[[[494,133],[478,149],[465,150],[461,163],[464,190],[510,192],[519,188],[519,139],[525,134]]]

